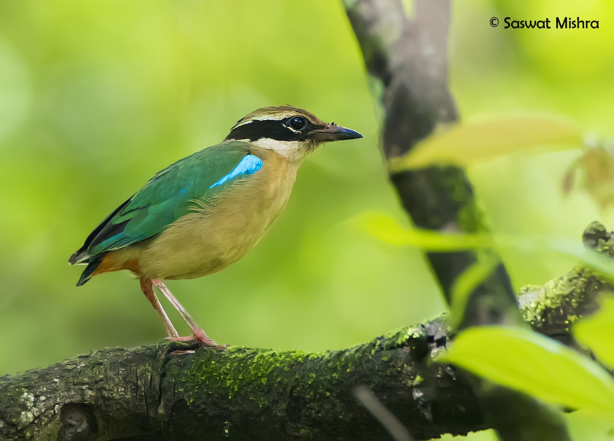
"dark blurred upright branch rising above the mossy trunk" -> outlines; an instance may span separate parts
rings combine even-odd
[[[459,117],[448,89],[449,0],[347,0],[346,12],[359,40],[374,98],[384,117],[382,148],[387,159],[406,155],[415,145]],[[464,169],[430,166],[391,172],[405,210],[420,228],[488,231]],[[427,253],[448,304],[454,282],[476,263],[478,253]],[[495,256],[496,259],[496,256]],[[473,289],[464,323],[513,323],[516,300],[503,264]],[[506,317],[508,316],[508,317]]]

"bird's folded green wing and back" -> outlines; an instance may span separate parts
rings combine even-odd
[[[239,174],[214,185],[233,171],[246,155],[249,155],[249,144],[222,142],[166,167],[99,224],[73,255],[73,260],[80,261],[80,253],[89,258],[160,234],[190,211],[194,199],[214,196],[246,176]]]

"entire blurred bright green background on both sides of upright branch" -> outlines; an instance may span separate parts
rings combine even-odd
[[[503,29],[506,16],[580,16],[600,29]],[[607,1],[455,2],[451,86],[462,117],[557,113],[612,139],[613,29]],[[441,312],[418,250],[381,244],[351,223],[367,210],[405,216],[338,2],[0,0],[0,375],[163,337],[131,275],[76,288],[82,267],[66,259],[153,173],[276,104],[364,138],[325,145],[303,163],[287,209],[249,255],[171,290],[231,345],[343,348]],[[580,191],[561,194],[577,156],[511,155],[472,167],[494,231],[579,240],[592,220],[612,228],[612,209]],[[516,288],[571,264],[546,253],[504,257]],[[607,425],[570,418],[577,439],[605,439]]]

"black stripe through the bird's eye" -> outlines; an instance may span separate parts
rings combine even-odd
[[[303,120],[302,129],[294,128],[292,122],[298,125],[295,118]],[[261,138],[270,138],[278,141],[304,141],[308,138],[311,123],[303,117],[290,117],[285,120],[254,120],[237,128],[228,134],[226,139],[249,139],[255,141]],[[292,129],[290,129],[292,128]]]

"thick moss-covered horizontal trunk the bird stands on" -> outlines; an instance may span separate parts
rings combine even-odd
[[[600,224],[585,242],[614,257]],[[523,290],[520,310],[538,332],[570,343],[570,320],[612,290],[577,266]],[[177,343],[93,351],[0,378],[0,440],[389,440],[355,398],[360,385],[413,439],[486,429],[473,385],[453,367],[425,362],[452,339],[441,316],[323,354]],[[176,353],[188,349],[195,353]]]

